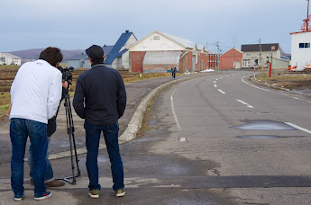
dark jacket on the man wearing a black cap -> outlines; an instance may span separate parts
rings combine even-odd
[[[123,116],[126,91],[119,71],[97,64],[78,76],[73,107],[96,125],[114,124]]]

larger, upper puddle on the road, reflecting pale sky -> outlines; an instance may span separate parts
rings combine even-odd
[[[296,130],[295,128],[280,121],[273,120],[245,120],[245,124],[231,127],[232,129],[250,130]]]

